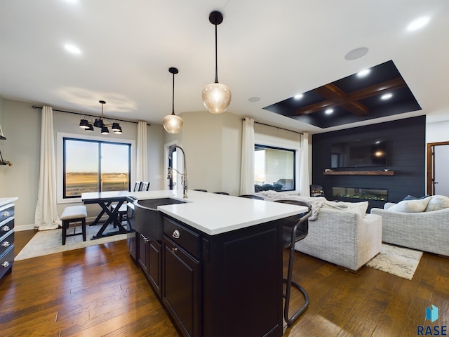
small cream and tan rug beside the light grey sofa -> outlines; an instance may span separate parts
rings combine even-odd
[[[422,251],[382,244],[379,255],[367,265],[404,279],[412,279],[421,256]]]

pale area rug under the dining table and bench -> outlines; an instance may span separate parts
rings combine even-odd
[[[67,237],[65,245],[62,246],[62,229],[58,230],[42,230],[37,232],[34,237],[23,247],[23,249],[15,257],[15,261],[25,260],[27,258],[35,258],[36,256],[44,256],[53,253],[60,253],[62,251],[71,251],[72,249],[84,248],[87,246],[95,246],[96,244],[105,244],[107,242],[114,242],[124,240],[129,234],[117,234],[109,237],[102,237],[100,239],[91,240],[94,234],[100,230],[100,225],[86,226],[86,241],[83,241],[82,235],[76,235],[74,237]],[[112,225],[109,227],[112,228]],[[106,228],[105,233],[112,231],[112,229]],[[67,234],[72,234],[72,227],[67,230]],[[76,231],[80,231],[81,228],[76,228]]]

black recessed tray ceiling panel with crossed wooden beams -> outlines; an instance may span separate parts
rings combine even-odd
[[[389,100],[382,100],[391,93]],[[325,114],[332,108],[332,114]],[[330,128],[368,119],[421,110],[393,61],[370,68],[366,77],[352,74],[333,83],[307,91],[300,100],[288,98],[264,107],[320,128]]]

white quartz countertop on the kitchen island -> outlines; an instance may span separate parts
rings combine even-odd
[[[193,190],[187,192],[187,199],[182,198],[182,190],[130,192],[129,195],[138,200],[170,197],[185,201],[185,204],[158,206],[157,209],[209,235],[239,230],[307,211],[304,206]]]

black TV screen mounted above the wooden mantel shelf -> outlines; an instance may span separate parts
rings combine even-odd
[[[382,139],[353,140],[335,143],[330,149],[332,169],[343,167],[387,166],[387,145]]]

